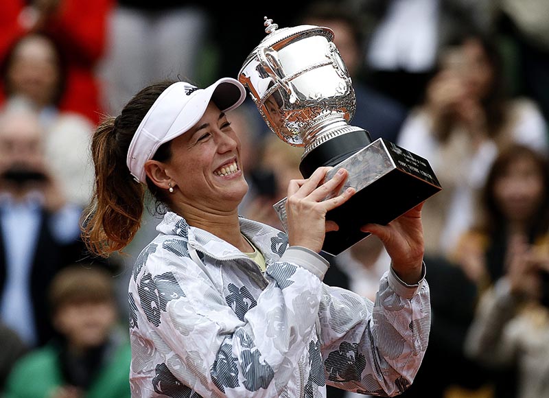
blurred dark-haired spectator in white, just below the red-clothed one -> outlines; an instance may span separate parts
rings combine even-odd
[[[93,165],[89,143],[93,124],[78,113],[62,110],[66,67],[56,42],[43,34],[27,34],[13,43],[1,78],[6,102],[26,102],[39,114],[45,134],[45,156],[60,180],[67,200],[84,207],[91,198]]]

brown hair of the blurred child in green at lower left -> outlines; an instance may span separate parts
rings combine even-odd
[[[60,270],[49,285],[52,312],[73,303],[115,303],[114,279],[104,268],[74,264]]]

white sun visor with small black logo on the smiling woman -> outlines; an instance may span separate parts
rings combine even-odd
[[[145,162],[159,149],[190,130],[204,115],[211,101],[227,112],[246,99],[246,89],[233,78],[222,78],[206,89],[176,82],[163,91],[143,117],[128,148],[126,164],[140,183],[145,182]]]

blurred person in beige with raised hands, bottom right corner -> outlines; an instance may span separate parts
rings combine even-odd
[[[548,247],[509,242],[507,261],[504,275],[480,298],[467,353],[495,369],[515,366],[517,398],[548,397]]]

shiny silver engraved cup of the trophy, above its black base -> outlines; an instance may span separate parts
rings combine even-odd
[[[285,143],[305,147],[302,159],[319,145],[334,137],[362,130],[349,124],[355,113],[356,99],[347,67],[333,43],[334,31],[320,25],[279,28],[267,16],[264,16],[264,26],[267,35],[250,52],[240,69],[238,78],[244,86],[248,87],[268,128]],[[317,39],[320,37],[324,40]],[[294,48],[303,47],[303,45],[300,47],[298,42],[309,38],[312,38],[313,45],[318,46],[312,53],[315,59],[305,65],[308,61],[306,56],[293,57],[294,60],[301,58],[303,65],[299,67],[290,65],[289,70],[286,70],[283,60],[277,58],[279,54],[283,54],[284,60],[288,60],[289,57],[285,53],[293,56],[292,51],[295,51],[295,54],[298,54],[299,50]],[[327,79],[329,88],[312,93],[307,91],[312,86],[309,82],[309,86],[303,89],[303,80],[306,80],[309,75],[318,74],[322,68],[323,73],[327,73],[326,71],[331,73]],[[263,91],[260,91],[257,86],[259,82],[266,84],[264,81],[270,85],[268,89],[262,88]],[[297,86],[296,82],[302,86]],[[318,84],[314,86],[317,87]],[[272,102],[272,97],[276,95],[283,98],[281,102],[284,104],[279,106],[283,113],[283,121],[277,120],[278,124],[273,122],[274,112],[266,106],[266,102],[268,100]]]

